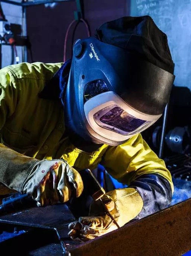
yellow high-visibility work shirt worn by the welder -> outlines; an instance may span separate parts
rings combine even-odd
[[[169,181],[173,191],[164,161],[140,134],[122,145],[104,144],[91,153],[72,145],[65,136],[60,99],[39,97],[62,64],[21,63],[0,70],[0,182],[20,191],[33,160],[64,159],[76,169],[95,169],[101,163],[125,184],[143,174],[159,174]]]

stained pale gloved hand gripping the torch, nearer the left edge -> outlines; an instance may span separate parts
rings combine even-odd
[[[22,192],[32,196],[38,206],[67,202],[83,191],[82,178],[66,161],[41,160],[32,168]]]

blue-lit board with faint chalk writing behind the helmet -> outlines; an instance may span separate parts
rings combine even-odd
[[[191,0],[131,0],[131,16],[150,15],[167,34],[175,85],[191,89]]]

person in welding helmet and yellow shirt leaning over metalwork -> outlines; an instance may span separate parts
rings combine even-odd
[[[93,201],[87,217],[69,225],[73,239],[165,208],[172,178],[141,132],[162,116],[174,78],[167,36],[150,16],[104,23],[94,37],[76,40],[66,63],[4,67],[0,182],[38,206],[53,205],[79,197],[80,170],[101,163],[128,187],[103,196],[112,218]]]

